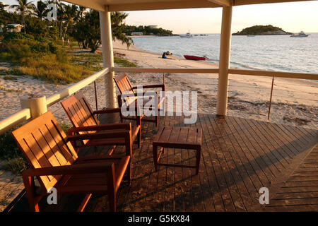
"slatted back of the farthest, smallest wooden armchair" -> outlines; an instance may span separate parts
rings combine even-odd
[[[129,95],[129,96],[124,97],[126,102],[128,102],[130,104],[131,102],[134,102],[137,99],[126,73],[115,76],[114,81],[115,81],[117,88],[119,89],[119,92],[121,94],[124,93],[125,95]]]

